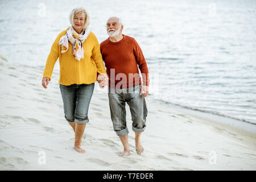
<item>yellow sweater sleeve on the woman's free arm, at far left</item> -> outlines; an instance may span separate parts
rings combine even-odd
[[[59,40],[60,36],[57,36],[52,44],[51,51],[47,57],[46,66],[44,67],[43,78],[48,77],[50,81],[54,65],[59,57]]]

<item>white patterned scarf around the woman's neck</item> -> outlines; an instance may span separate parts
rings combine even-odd
[[[81,34],[77,34],[72,26],[68,27],[67,33],[63,35],[59,41],[59,44],[61,45],[61,53],[68,51],[68,42],[70,42],[73,44],[72,55],[80,61],[81,58],[84,58],[84,48],[82,48],[82,43],[84,43],[89,34],[89,27],[87,27]]]

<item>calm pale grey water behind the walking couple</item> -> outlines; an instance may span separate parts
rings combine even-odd
[[[107,38],[109,16],[122,18],[123,34],[133,36],[146,57],[151,97],[256,123],[254,0],[1,0],[0,5],[0,55],[10,63],[44,67],[56,36],[69,26],[69,12],[84,6],[99,42]]]

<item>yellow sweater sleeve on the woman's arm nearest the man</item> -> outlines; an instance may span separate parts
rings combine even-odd
[[[92,59],[96,63],[97,73],[106,75],[106,70],[105,70],[105,66],[104,66],[102,56],[101,56],[101,51],[100,51],[100,44],[98,43],[96,36],[94,41],[95,41],[95,45],[92,50]]]

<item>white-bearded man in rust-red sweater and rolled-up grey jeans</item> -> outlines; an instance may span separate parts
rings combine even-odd
[[[120,156],[130,155],[126,127],[125,103],[130,107],[135,148],[137,154],[144,151],[141,134],[146,128],[147,107],[144,97],[148,95],[148,68],[139,44],[134,38],[123,35],[123,24],[118,17],[106,23],[109,38],[100,44],[102,58],[109,77],[109,106],[114,131],[119,136],[124,151]],[[139,76],[142,73],[142,80]],[[122,78],[122,79],[121,79]]]

